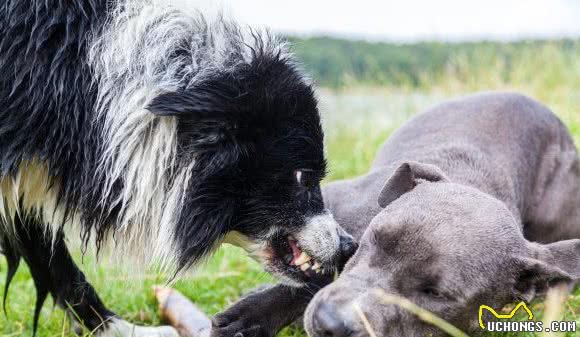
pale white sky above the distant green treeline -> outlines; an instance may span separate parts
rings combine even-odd
[[[580,0],[213,0],[212,6],[244,23],[306,36],[400,42],[580,37]]]

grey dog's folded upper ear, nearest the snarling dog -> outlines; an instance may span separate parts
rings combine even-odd
[[[379,194],[379,206],[386,207],[398,199],[401,195],[409,192],[417,186],[418,180],[447,181],[445,173],[435,165],[405,162],[401,164],[395,173],[387,180]]]

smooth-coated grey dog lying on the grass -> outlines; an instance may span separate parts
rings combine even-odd
[[[499,309],[580,279],[576,148],[550,110],[518,94],[478,94],[418,115],[368,174],[323,194],[360,243],[340,277],[312,301],[308,287],[252,293],[217,320],[245,337],[271,336],[308,305],[310,336],[365,335],[356,304],[379,336],[437,336],[382,304],[377,289],[469,331],[482,304]]]

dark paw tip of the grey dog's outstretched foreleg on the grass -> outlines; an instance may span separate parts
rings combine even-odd
[[[238,310],[231,310],[214,316],[212,319],[211,337],[273,337],[274,331],[263,322],[244,317]]]

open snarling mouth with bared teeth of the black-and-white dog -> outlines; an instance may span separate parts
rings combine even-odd
[[[292,235],[277,236],[271,243],[273,271],[300,283],[330,274],[333,266],[312,257]]]

